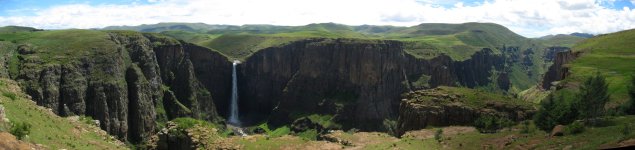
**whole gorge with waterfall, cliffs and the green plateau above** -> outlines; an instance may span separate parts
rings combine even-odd
[[[283,27],[180,33],[212,41],[177,31],[18,31],[7,34],[29,38],[0,41],[0,76],[57,115],[99,120],[119,140],[158,136],[157,143],[182,148],[196,145],[180,135],[198,128],[176,125],[188,119],[222,136],[278,130],[331,140],[325,136],[339,130],[401,137],[482,116],[523,121],[536,108],[518,98],[521,91],[550,89],[574,58],[567,47],[490,23],[421,24],[381,36],[307,25],[315,26],[336,36]]]

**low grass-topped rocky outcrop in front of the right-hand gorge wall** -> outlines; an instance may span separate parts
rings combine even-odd
[[[509,97],[441,87],[404,95],[399,107],[397,133],[401,135],[427,126],[472,125],[483,115],[519,121],[532,114],[530,104]]]

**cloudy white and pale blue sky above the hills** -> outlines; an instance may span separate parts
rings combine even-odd
[[[635,28],[633,4],[635,0],[0,0],[0,26],[493,22],[538,37]]]

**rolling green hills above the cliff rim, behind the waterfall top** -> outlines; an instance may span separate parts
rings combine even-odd
[[[162,23],[136,27],[107,27],[145,32],[162,32],[180,40],[216,49],[235,59],[244,59],[258,50],[307,38],[388,39],[405,43],[408,53],[418,58],[433,58],[440,54],[455,60],[469,58],[482,48],[503,45],[532,46],[531,40],[492,23],[421,24],[412,27],[347,26],[335,23],[306,26],[272,25],[207,25]],[[157,28],[161,30],[156,30]]]

